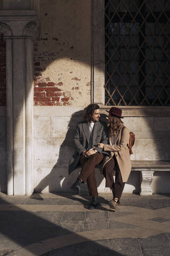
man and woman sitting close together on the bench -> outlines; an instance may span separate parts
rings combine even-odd
[[[86,121],[79,123],[74,134],[74,146],[77,153],[71,158],[69,173],[77,167],[79,161],[82,166],[77,181],[72,189],[80,192],[81,183],[87,182],[89,195],[92,200],[89,209],[95,209],[98,202],[95,166],[103,161],[103,174],[106,187],[111,188],[113,200],[109,202],[111,210],[115,211],[121,198],[125,182],[131,172],[130,153],[128,148],[129,130],[121,120],[122,110],[112,107],[108,111],[108,125],[99,121],[100,109],[97,104],[90,104],[86,108]],[[108,134],[108,136],[107,136]],[[116,171],[115,182],[113,178]]]

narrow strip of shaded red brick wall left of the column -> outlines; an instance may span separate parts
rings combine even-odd
[[[5,42],[0,34],[0,106],[6,106]]]

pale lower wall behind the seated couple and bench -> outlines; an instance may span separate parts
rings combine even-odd
[[[69,159],[74,152],[72,138],[77,123],[83,119],[82,107],[34,107],[35,122],[35,173],[34,187],[37,191],[71,191],[72,183],[77,179],[75,170],[68,175]],[[101,111],[103,120],[106,111]],[[125,117],[124,124],[136,135],[135,146],[131,159],[169,159],[168,117]],[[158,125],[159,124],[159,125]],[[164,133],[162,132],[164,130]],[[162,134],[162,135],[161,135]],[[164,135],[163,135],[164,134]],[[162,143],[166,154],[162,151]],[[158,143],[159,142],[159,143]],[[106,192],[105,179],[96,171],[98,191]],[[169,173],[154,174],[152,183],[154,193],[169,193]],[[86,186],[82,186],[87,190]],[[131,172],[125,185],[124,193],[139,193],[140,173]]]

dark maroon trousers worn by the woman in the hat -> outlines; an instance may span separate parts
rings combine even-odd
[[[115,165],[117,167],[116,168],[117,171],[116,171],[115,182],[114,182],[114,178],[113,178],[114,170],[113,169],[114,169]],[[113,156],[112,159],[109,160],[105,164],[104,169],[103,169],[103,174],[106,179],[106,187],[111,188],[113,191],[113,196],[120,199],[123,189],[124,189],[125,182],[122,181],[122,175],[121,175],[120,169],[118,167],[117,160],[116,160],[115,156]]]

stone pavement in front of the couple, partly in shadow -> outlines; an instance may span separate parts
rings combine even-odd
[[[116,212],[111,194],[88,210],[75,194],[0,194],[0,256],[169,256],[169,195],[123,194]]]

